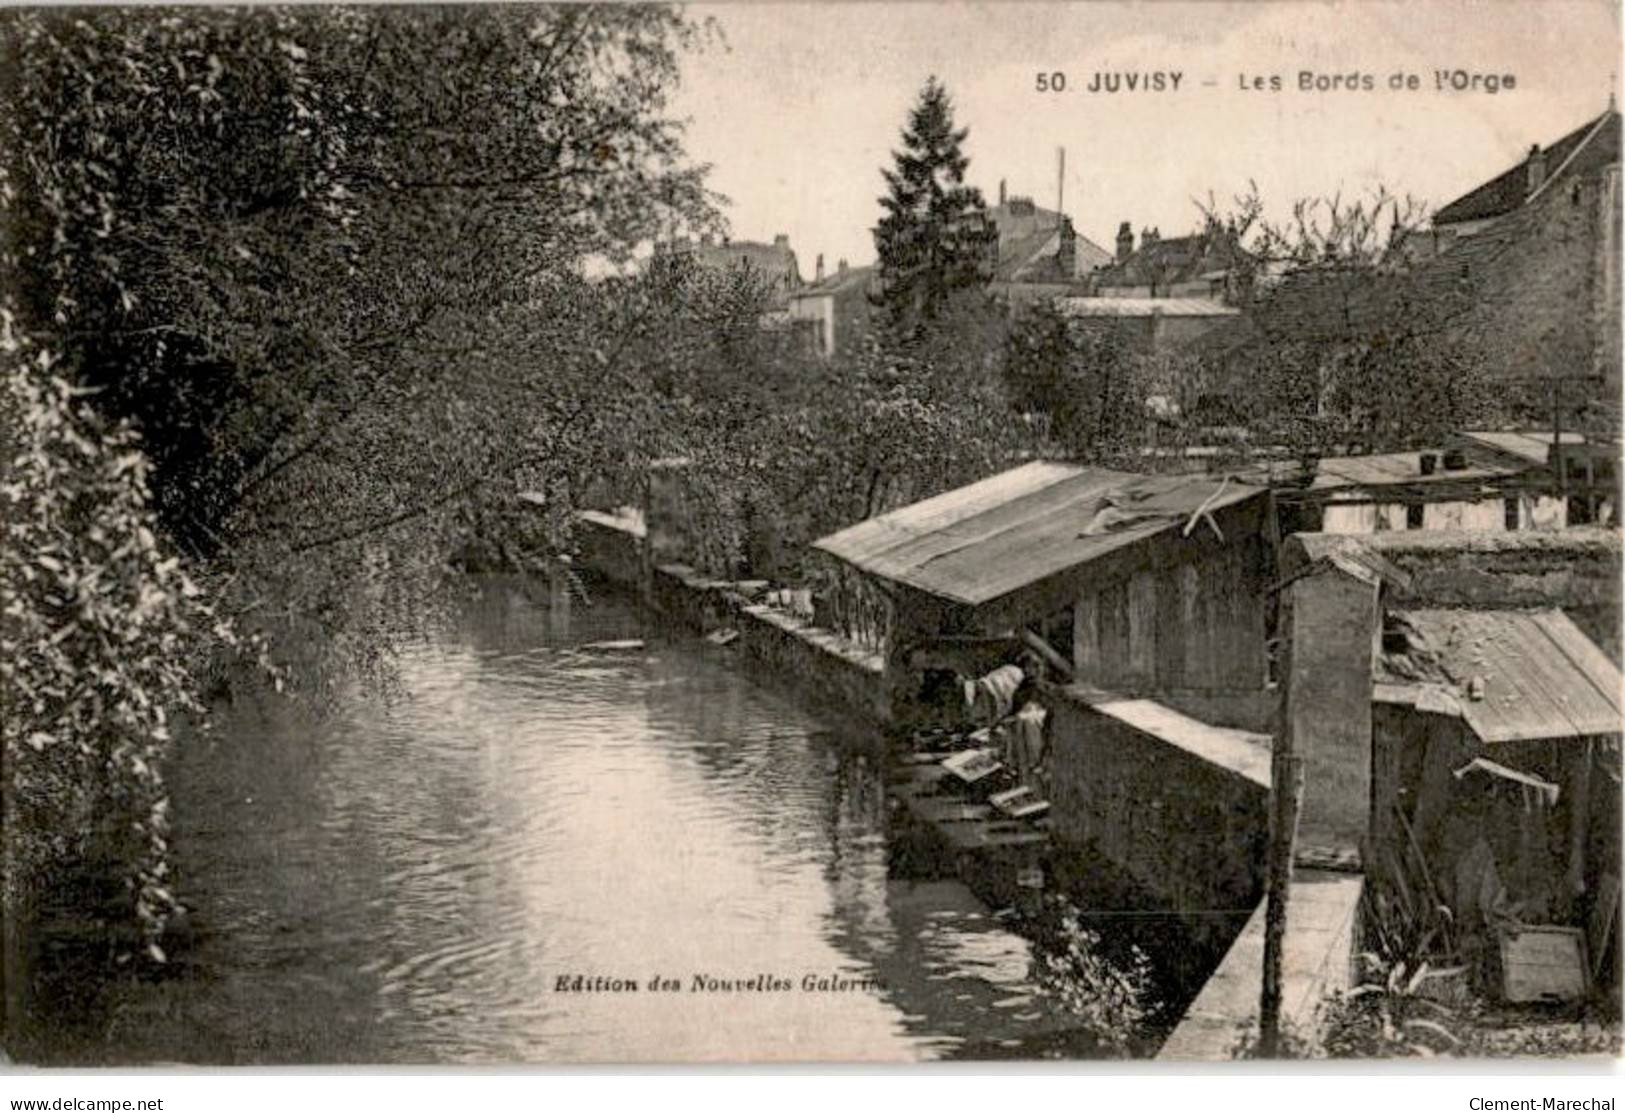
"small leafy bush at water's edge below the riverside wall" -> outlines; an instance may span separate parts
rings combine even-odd
[[[1133,946],[1108,955],[1100,933],[1082,925],[1079,910],[1064,899],[1056,903],[1056,928],[1035,947],[1034,980],[1082,1022],[1103,1051],[1124,1058],[1155,1006],[1150,959]]]

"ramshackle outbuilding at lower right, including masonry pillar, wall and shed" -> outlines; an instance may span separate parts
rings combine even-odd
[[[1365,938],[1510,996],[1536,931],[1617,993],[1618,535],[1297,535],[1282,574],[1303,824],[1357,842]]]

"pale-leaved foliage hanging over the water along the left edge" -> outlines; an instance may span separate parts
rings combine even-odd
[[[127,882],[150,954],[177,902],[162,765],[202,713],[198,653],[257,648],[221,622],[158,533],[138,439],[86,405],[0,314],[0,689],[5,894],[63,873]]]

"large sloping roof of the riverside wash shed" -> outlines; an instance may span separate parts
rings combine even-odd
[[[832,533],[814,548],[871,575],[980,606],[1191,513],[1263,494],[1198,476],[1035,461]]]

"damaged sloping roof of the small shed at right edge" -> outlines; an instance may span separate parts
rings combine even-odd
[[[1443,684],[1485,743],[1620,731],[1620,671],[1558,609],[1393,611],[1410,648],[1381,684]]]

